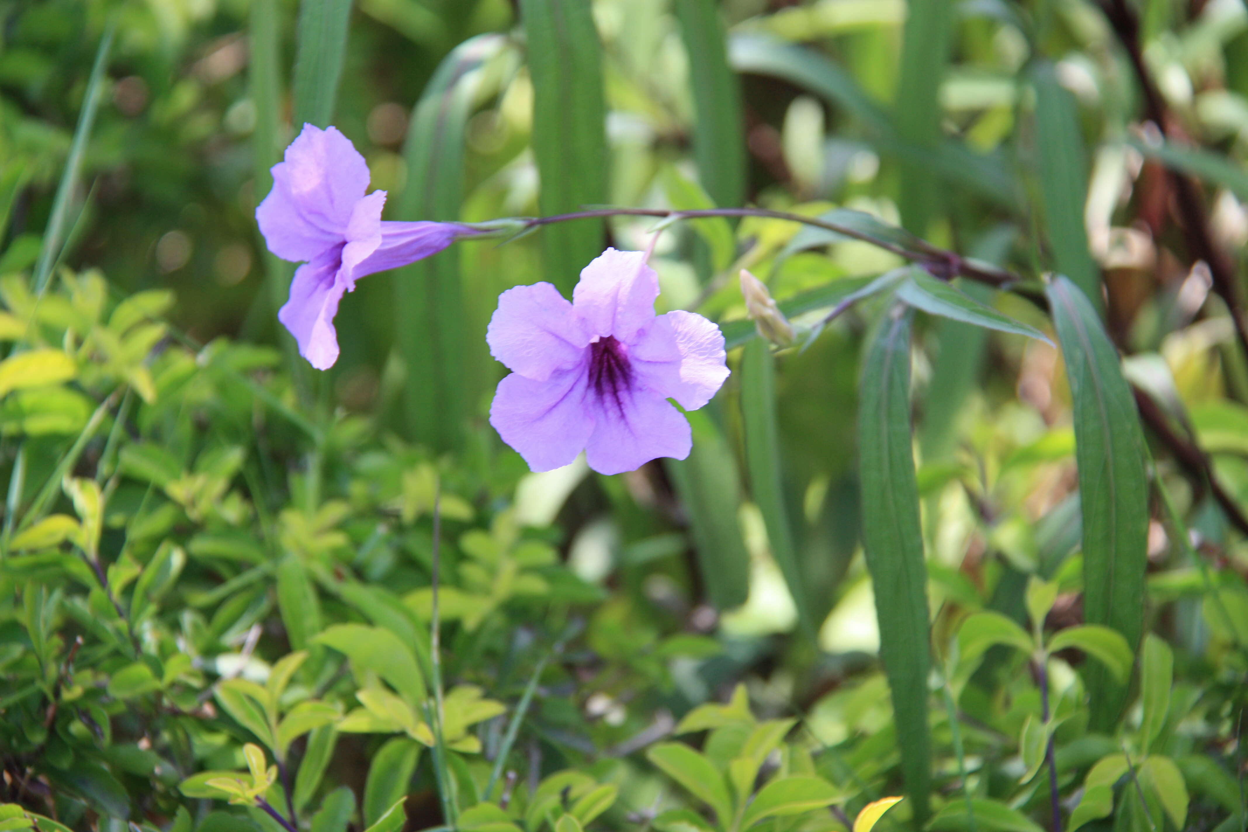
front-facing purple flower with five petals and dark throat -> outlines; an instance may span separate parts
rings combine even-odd
[[[512,374],[489,423],[535,472],[585,452],[602,474],[689,455],[686,410],[728,378],[724,336],[691,312],[654,314],[659,279],[644,252],[608,248],[580,272],[568,303],[549,283],[498,298],[485,341]]]

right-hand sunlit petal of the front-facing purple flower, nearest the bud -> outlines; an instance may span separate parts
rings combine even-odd
[[[724,334],[694,312],[659,316],[629,354],[641,384],[686,410],[710,402],[729,375]]]

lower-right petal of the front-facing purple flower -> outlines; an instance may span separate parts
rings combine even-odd
[[[618,400],[594,403],[585,462],[599,474],[636,470],[659,457],[684,459],[691,448],[689,420],[649,390],[634,388]]]

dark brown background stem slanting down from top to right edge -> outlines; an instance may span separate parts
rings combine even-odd
[[[1127,50],[1127,57],[1131,60],[1136,80],[1144,96],[1144,115],[1157,125],[1162,136],[1171,138],[1173,130],[1169,126],[1166,101],[1148,74],[1144,54],[1139,46],[1139,19],[1126,0],[1102,0],[1101,9],[1118,36],[1118,41]],[[1248,322],[1244,321],[1239,304],[1234,266],[1213,239],[1209,217],[1197,183],[1184,173],[1169,167],[1166,168],[1166,173],[1174,187],[1174,202],[1182,221],[1183,238],[1187,242],[1188,252],[1193,258],[1203,259],[1209,267],[1209,274],[1213,277],[1213,291],[1227,304],[1231,319],[1234,322],[1239,347],[1248,357]]]

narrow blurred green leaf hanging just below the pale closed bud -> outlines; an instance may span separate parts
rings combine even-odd
[[[755,338],[745,344],[741,357],[741,415],[745,423],[745,463],[750,474],[750,494],[763,513],[771,555],[784,574],[789,594],[797,607],[797,620],[806,635],[816,635],[810,615],[806,583],[802,580],[792,524],[785,504],[780,469],[780,433],[776,427],[775,359],[768,343]]]

